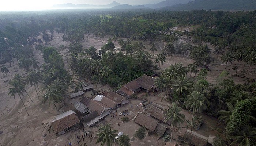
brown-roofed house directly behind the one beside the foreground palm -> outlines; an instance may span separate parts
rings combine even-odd
[[[153,116],[154,118],[160,120],[161,122],[166,122],[167,124],[171,125],[171,120],[166,120],[165,117],[165,111],[164,108],[161,105],[152,103],[148,104],[144,112],[149,113],[150,116]]]

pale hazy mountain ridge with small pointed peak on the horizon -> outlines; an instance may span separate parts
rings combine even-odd
[[[57,4],[53,5],[53,8],[112,8],[118,5],[123,5],[120,3],[117,3],[116,1],[113,1],[111,4],[107,5],[90,5],[90,4],[72,4],[72,3],[67,3],[67,4]]]

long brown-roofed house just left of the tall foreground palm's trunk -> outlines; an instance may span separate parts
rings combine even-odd
[[[139,112],[138,115],[136,115],[134,122],[147,128],[148,135],[157,134],[158,137],[162,137],[168,127],[166,124],[161,123],[157,119],[154,119],[150,115],[146,115],[142,112]]]

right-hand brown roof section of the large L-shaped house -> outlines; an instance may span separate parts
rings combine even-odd
[[[136,81],[139,83],[139,85],[147,90],[150,90],[151,88],[154,88],[154,81],[157,80],[153,77],[147,76],[144,74],[142,77],[136,79]]]

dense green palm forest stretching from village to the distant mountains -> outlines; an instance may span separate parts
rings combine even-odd
[[[26,82],[18,75],[14,77],[10,94],[22,95],[28,83],[37,91],[38,82],[42,82],[46,90],[43,101],[50,100],[54,105],[63,100],[61,95],[66,94],[72,80],[64,68],[65,56],[60,55],[65,50],[69,53],[65,60],[74,74],[114,89],[143,74],[158,73],[155,85],[163,99],[177,101],[178,106],[192,110],[193,115],[202,111],[225,122],[226,129],[220,131],[226,137],[219,137],[216,146],[255,145],[256,83],[249,78],[253,72],[251,66],[256,64],[255,22],[256,11],[2,12],[1,71],[6,75],[9,71],[5,64],[17,61],[28,76]],[[193,30],[186,31],[188,26]],[[173,27],[184,31],[173,31]],[[68,45],[51,46],[53,32],[63,34],[62,40]],[[94,46],[83,48],[85,34],[99,39],[111,37],[97,51]],[[184,43],[177,43],[180,39]],[[113,42],[118,42],[121,48],[116,48]],[[145,42],[150,43],[151,52],[159,53],[154,56],[145,51]],[[159,50],[156,44],[163,49]],[[210,46],[217,55],[215,59],[221,59],[223,64],[243,61],[249,65],[248,70],[240,69],[248,75],[248,83],[236,85],[228,77],[228,71],[219,75],[217,84],[208,82],[208,65],[214,59]],[[33,57],[34,49],[42,51],[45,61],[42,66]],[[188,66],[177,63],[160,70],[166,57],[174,53],[188,55],[195,62]],[[234,70],[237,69],[235,66]]]

